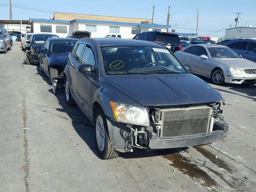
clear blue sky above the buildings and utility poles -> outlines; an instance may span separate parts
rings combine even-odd
[[[202,3],[203,2],[203,3]],[[0,19],[9,19],[8,0],[0,0]],[[224,36],[224,29],[235,25],[236,12],[240,15],[238,26],[245,23],[256,27],[256,1],[254,0],[22,0],[12,1],[13,19],[44,18],[53,16],[49,12],[69,12],[134,18],[152,18],[155,6],[154,23],[166,24],[168,6],[171,6],[171,25],[177,32],[196,32],[196,9],[199,10],[198,33],[206,36]],[[30,7],[28,7],[30,6]],[[40,9],[38,11],[27,9]],[[42,12],[44,11],[44,12]]]

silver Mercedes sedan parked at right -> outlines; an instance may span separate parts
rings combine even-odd
[[[214,44],[196,44],[174,53],[190,72],[210,78],[214,84],[256,84],[256,63],[232,49]]]

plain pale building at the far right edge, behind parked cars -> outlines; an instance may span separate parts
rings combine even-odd
[[[256,38],[256,28],[254,27],[236,27],[226,29],[225,39],[239,37],[254,37]]]

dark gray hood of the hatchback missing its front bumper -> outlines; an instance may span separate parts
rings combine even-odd
[[[107,76],[106,82],[143,106],[196,104],[222,100],[216,90],[192,74]]]

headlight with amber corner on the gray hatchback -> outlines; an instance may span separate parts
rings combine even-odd
[[[149,115],[146,108],[110,101],[114,118],[118,122],[149,126]]]

